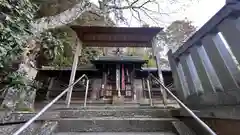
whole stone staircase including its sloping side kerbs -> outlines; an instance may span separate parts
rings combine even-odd
[[[58,108],[46,112],[21,135],[195,135],[180,133],[179,120],[170,111],[149,106]],[[1,135],[9,135],[21,125]]]

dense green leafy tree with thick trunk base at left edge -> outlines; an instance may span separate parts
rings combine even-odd
[[[0,2],[0,73],[5,96],[2,107],[31,109],[36,87],[27,78],[25,58],[28,37],[33,36],[31,24],[36,5],[30,0],[1,0]]]

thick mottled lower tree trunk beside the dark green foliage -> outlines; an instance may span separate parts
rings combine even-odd
[[[31,65],[31,57],[35,54],[28,55],[29,51],[36,47],[35,42],[29,41],[28,46],[23,52],[21,60],[19,60],[19,68],[16,72],[26,73],[24,78],[29,81],[28,85],[32,85],[32,80],[35,79],[37,75],[37,70]],[[32,51],[33,52],[33,51]],[[33,63],[33,62],[32,62]],[[26,81],[26,82],[28,82]],[[5,86],[4,100],[2,102],[2,107],[8,108],[10,110],[21,110],[30,111],[34,110],[34,102],[36,97],[36,88],[32,86],[27,86],[24,89],[16,88],[12,86]]]

